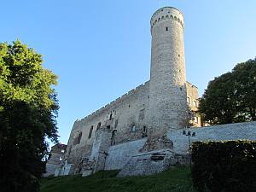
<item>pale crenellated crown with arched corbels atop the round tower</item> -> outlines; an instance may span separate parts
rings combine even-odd
[[[183,14],[176,8],[165,7],[165,8],[158,9],[150,20],[151,29],[154,27],[155,24],[157,24],[162,20],[175,20],[182,27],[184,27]]]

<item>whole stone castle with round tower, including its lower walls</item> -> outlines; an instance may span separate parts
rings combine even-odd
[[[172,7],[161,8],[150,26],[150,79],[74,123],[63,165],[55,169],[55,176],[87,176],[100,170],[121,170],[119,176],[147,175],[188,163],[189,146],[182,130],[189,108],[195,111],[191,123],[200,127],[202,122],[196,113],[198,90],[186,82],[183,14]],[[191,131],[199,133],[195,140],[245,138],[241,131],[234,135],[230,126]],[[252,131],[255,124],[232,126]]]

